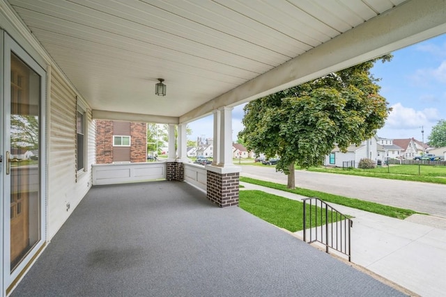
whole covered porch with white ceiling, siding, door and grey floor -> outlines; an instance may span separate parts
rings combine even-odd
[[[231,109],[443,34],[445,3],[0,0],[0,296],[397,295],[233,206]],[[207,115],[197,169],[186,126]],[[169,125],[139,173],[170,182],[92,188],[95,120]],[[10,170],[31,122],[38,160]]]

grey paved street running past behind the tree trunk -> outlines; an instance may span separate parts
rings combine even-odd
[[[240,175],[280,184],[287,182],[286,175],[276,172],[275,166],[242,166]],[[296,170],[295,186],[446,218],[446,185],[443,184]]]

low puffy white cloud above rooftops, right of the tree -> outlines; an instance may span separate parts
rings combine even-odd
[[[392,106],[392,109],[385,123],[386,127],[390,129],[414,129],[440,119],[438,109],[434,108],[416,111],[397,103]]]

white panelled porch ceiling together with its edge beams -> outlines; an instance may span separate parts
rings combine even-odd
[[[441,0],[7,1],[96,115],[158,122],[187,122],[446,31]]]

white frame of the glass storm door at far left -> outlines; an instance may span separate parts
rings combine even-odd
[[[47,72],[41,67],[32,56],[30,56],[20,45],[11,38],[8,33],[0,30],[0,38],[3,42],[0,42],[0,60],[3,61],[3,65],[0,64],[0,69],[3,72],[2,81],[0,83],[0,143],[3,146],[0,147],[0,154],[3,155],[3,162],[0,169],[0,193],[2,203],[0,203],[0,214],[2,214],[0,220],[0,236],[2,243],[0,244],[1,252],[1,296],[6,296],[7,291],[11,288],[11,284],[15,282],[17,278],[23,275],[23,271],[29,268],[29,263],[34,259],[38,250],[45,245],[46,234],[46,212],[47,212],[47,191],[46,191],[46,94],[47,94]],[[14,271],[10,271],[10,175],[6,175],[6,160],[4,154],[6,150],[10,148],[10,53],[13,52],[16,56],[22,59],[29,67],[31,67],[37,74],[40,75],[40,236],[38,242],[31,248],[28,254],[24,257],[22,262],[17,265]]]

